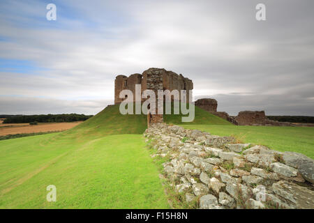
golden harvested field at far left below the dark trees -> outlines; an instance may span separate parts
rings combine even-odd
[[[79,125],[82,121],[71,123],[38,123],[38,125],[29,125],[29,123],[0,123],[0,136],[7,134],[22,134],[33,132],[52,132],[63,131]]]

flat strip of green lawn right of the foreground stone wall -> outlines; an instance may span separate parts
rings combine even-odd
[[[238,125],[181,125],[220,136],[234,136],[240,141],[268,146],[277,151],[303,153],[314,159],[314,128]]]

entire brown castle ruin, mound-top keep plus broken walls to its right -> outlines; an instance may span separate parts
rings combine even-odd
[[[181,90],[186,90],[187,92],[193,90],[193,82],[187,77],[184,77],[181,74],[177,75],[177,73],[165,69],[149,68],[142,72],[142,75],[139,73],[128,77],[125,75],[117,75],[114,80],[114,104],[119,104],[126,99],[126,96],[124,98],[119,98],[119,95],[123,90],[130,90],[133,95],[135,95],[135,84],[140,84],[141,95],[143,91],[147,89],[154,91],[155,95],[158,95],[158,90],[177,90],[179,93],[181,93]],[[186,102],[189,102],[188,97],[189,94],[187,93]],[[140,100],[140,102],[144,102],[142,97],[140,97]],[[135,102],[135,98],[133,98],[133,102]],[[215,116],[224,118],[234,125],[290,125],[290,123],[269,120],[267,116],[265,116],[264,111],[239,112],[238,116],[235,117],[229,116],[227,112],[217,112],[218,102],[212,98],[201,98],[195,101],[194,104]],[[163,115],[158,114],[158,105],[156,101],[156,114],[147,115],[147,125],[149,126],[150,123],[161,122],[163,122]]]

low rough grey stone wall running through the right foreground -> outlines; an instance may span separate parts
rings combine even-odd
[[[314,208],[314,160],[305,155],[165,123],[144,137],[152,157],[166,160],[172,189],[197,208]]]

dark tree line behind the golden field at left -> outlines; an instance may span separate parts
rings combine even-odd
[[[84,114],[39,114],[39,115],[15,115],[8,116],[3,123],[63,123],[73,121],[85,121],[91,118],[92,115]]]

